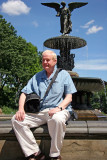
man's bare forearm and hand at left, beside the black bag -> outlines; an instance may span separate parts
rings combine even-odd
[[[24,104],[25,104],[26,95],[22,93],[19,98],[19,109],[16,112],[15,119],[18,121],[23,121],[25,118]]]

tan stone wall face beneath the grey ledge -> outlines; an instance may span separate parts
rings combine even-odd
[[[37,140],[48,156],[50,140]],[[107,140],[64,140],[61,151],[63,160],[107,160]],[[17,141],[0,141],[0,160],[23,160],[24,155]]]

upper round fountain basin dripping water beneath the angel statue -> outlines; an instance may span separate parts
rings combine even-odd
[[[49,38],[44,42],[44,46],[52,49],[77,49],[86,46],[87,43],[84,39],[73,37],[69,35],[61,35],[58,37]]]

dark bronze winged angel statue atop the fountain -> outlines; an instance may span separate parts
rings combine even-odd
[[[54,8],[57,11],[58,17],[60,17],[60,26],[61,30],[60,32],[63,35],[69,34],[72,31],[72,22],[71,22],[71,12],[79,7],[82,7],[88,3],[83,2],[71,2],[68,4],[68,8],[66,7],[65,2],[61,2],[62,7],[60,8],[60,4],[56,2],[51,3],[41,3],[42,5],[45,5],[47,7]]]

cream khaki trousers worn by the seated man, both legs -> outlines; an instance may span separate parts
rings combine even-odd
[[[30,128],[46,123],[51,137],[50,157],[60,155],[66,130],[65,123],[69,119],[70,113],[65,109],[50,117],[48,111],[49,109],[44,109],[37,114],[26,114],[24,121],[17,121],[15,115],[13,116],[12,126],[25,157],[40,151]]]

